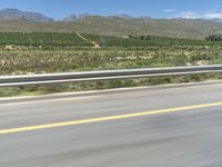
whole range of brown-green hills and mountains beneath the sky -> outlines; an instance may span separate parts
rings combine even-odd
[[[2,12],[4,11],[4,12]],[[150,17],[132,18],[127,14],[110,17],[71,14],[63,20],[52,21],[42,14],[14,10],[12,17],[6,17],[8,10],[0,12],[1,32],[71,32],[78,31],[90,35],[125,37],[128,35],[165,36],[185,39],[203,39],[211,33],[222,33],[222,21],[219,19],[152,19]],[[13,10],[9,10],[13,11]],[[4,13],[4,14],[2,14]],[[23,13],[23,12],[21,12]],[[29,14],[28,14],[29,13]],[[16,17],[17,16],[17,17]],[[28,17],[29,16],[29,17]],[[43,19],[44,18],[44,19]]]

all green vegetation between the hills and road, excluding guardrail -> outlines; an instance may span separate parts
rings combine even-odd
[[[82,36],[101,48],[93,48],[75,33],[0,33],[0,75],[222,63],[221,42],[152,36]],[[1,88],[0,96],[188,82],[206,78],[220,78],[220,75]]]

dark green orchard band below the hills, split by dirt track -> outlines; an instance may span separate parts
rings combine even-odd
[[[175,39],[168,37],[151,36],[149,40],[141,40],[140,37],[118,38],[84,35],[92,41],[97,41],[102,47],[164,47],[164,46],[213,46],[218,42],[192,39]],[[0,46],[32,46],[32,47],[90,47],[91,43],[80,39],[75,32],[70,33],[52,33],[52,32],[0,32]]]

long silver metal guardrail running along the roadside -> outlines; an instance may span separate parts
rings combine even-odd
[[[222,65],[0,76],[0,87],[222,72]]]

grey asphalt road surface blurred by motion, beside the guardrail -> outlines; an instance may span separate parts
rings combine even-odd
[[[221,167],[222,84],[0,102],[0,167],[135,166]]]

